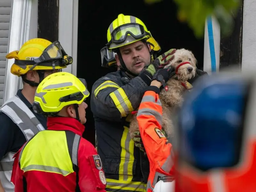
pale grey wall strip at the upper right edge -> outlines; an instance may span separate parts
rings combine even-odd
[[[256,67],[256,1],[244,0],[242,71]]]

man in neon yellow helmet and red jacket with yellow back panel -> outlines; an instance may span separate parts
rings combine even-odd
[[[84,80],[85,82],[85,80]],[[15,192],[105,191],[100,156],[82,138],[86,122],[86,83],[60,72],[37,87],[33,109],[47,118],[47,130],[38,132],[15,155],[12,182]]]

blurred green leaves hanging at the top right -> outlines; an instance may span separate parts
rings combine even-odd
[[[162,0],[144,0],[154,4]],[[165,0],[167,1],[167,0]],[[169,0],[170,1],[170,0]],[[213,15],[220,24],[221,33],[227,36],[232,32],[233,18],[240,0],[173,0],[178,6],[178,19],[187,22],[198,38],[204,36],[205,19]]]

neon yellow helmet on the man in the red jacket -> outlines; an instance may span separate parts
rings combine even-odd
[[[79,105],[90,95],[85,86],[71,73],[53,73],[38,85],[33,109],[36,113],[54,114],[65,106]]]

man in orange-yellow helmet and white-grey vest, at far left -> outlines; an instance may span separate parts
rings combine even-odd
[[[11,192],[13,155],[33,135],[46,129],[46,118],[32,109],[36,87],[46,76],[71,64],[72,57],[67,56],[58,41],[35,38],[6,58],[15,59],[11,73],[21,76],[23,83],[23,89],[0,108],[0,191]]]

